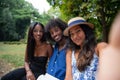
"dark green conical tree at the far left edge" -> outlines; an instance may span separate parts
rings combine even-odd
[[[5,8],[2,13],[2,23],[4,26],[1,26],[1,39],[3,40],[16,40],[18,34],[16,33],[15,22],[13,20],[12,13],[9,8]],[[13,34],[14,33],[14,34]]]

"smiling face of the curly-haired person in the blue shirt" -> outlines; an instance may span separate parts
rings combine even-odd
[[[52,27],[50,29],[50,35],[54,41],[59,42],[62,39],[63,32],[59,27]]]

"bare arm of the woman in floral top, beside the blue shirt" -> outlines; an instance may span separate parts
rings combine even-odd
[[[66,52],[66,76],[65,80],[72,80],[72,52],[71,50],[67,50]]]

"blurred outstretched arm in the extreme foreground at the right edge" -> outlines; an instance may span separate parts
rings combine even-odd
[[[101,51],[97,80],[120,80],[120,13],[116,16],[108,46]]]

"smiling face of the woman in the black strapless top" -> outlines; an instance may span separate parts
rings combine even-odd
[[[43,36],[43,29],[39,24],[37,24],[33,29],[33,37],[35,41],[40,41],[42,36]]]

